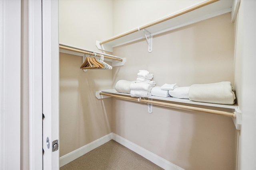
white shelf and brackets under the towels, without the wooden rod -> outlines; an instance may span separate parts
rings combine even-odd
[[[111,96],[105,96],[101,95],[100,93],[105,93],[105,94],[116,94],[120,96],[129,96],[130,94],[126,93],[118,93],[115,89],[108,89],[108,90],[101,90],[95,92],[95,96],[98,99],[104,99],[104,98],[111,98]],[[214,107],[214,110],[220,110],[222,111],[223,109],[229,109],[232,112],[236,113],[236,118],[232,117],[234,121],[234,125],[236,126],[236,129],[240,130],[241,129],[241,111],[239,109],[239,106],[237,104],[234,105],[224,105],[224,104],[212,104],[212,103],[204,103],[204,102],[194,102],[189,99],[178,99],[178,98],[173,98],[173,97],[158,97],[158,96],[150,96],[148,97],[148,100],[160,100],[162,102],[174,102],[175,104],[179,105],[192,105],[192,107],[198,107],[198,108],[203,108],[205,106],[210,106]],[[140,99],[138,99],[138,102],[140,102]],[[152,105],[148,105],[148,112],[152,113]]]

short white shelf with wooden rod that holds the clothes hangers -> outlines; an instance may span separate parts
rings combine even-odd
[[[126,58],[120,58],[120,57],[116,57],[114,55],[99,53],[99,52],[90,51],[90,50],[86,50],[86,49],[80,49],[78,47],[74,47],[74,46],[70,46],[70,45],[60,44],[59,48],[60,48],[60,53],[77,55],[77,56],[81,56],[81,57],[84,57],[85,54],[94,55],[94,56],[96,55],[97,57],[100,57],[100,55],[104,55],[104,60],[111,61],[112,66],[123,66],[124,63],[126,62]]]

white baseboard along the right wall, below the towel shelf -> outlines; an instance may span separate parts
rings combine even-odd
[[[147,160],[150,160],[154,164],[160,166],[161,168],[165,170],[184,170],[183,168],[180,168],[179,166],[169,162],[168,160],[165,160],[164,158],[136,145],[135,143],[132,143],[128,141],[127,139],[124,139],[123,137],[120,137],[114,133],[112,133],[112,139],[121,145],[124,145],[126,148],[136,152],[137,154],[143,156]]]

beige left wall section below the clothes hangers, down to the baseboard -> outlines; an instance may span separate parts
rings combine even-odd
[[[60,53],[60,156],[112,132],[112,99],[95,92],[112,86],[111,70],[80,69],[82,57]]]

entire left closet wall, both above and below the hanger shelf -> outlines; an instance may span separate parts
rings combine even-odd
[[[96,40],[112,36],[112,1],[60,0],[59,12],[60,43],[98,51]],[[84,72],[82,63],[60,53],[60,157],[112,132],[112,99],[95,98],[112,88],[112,70]]]

